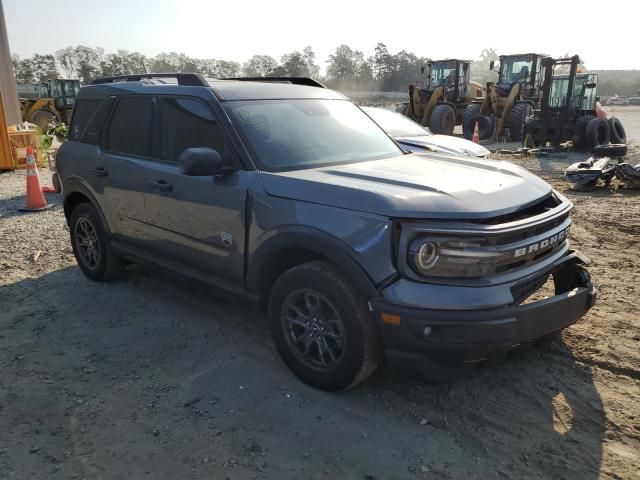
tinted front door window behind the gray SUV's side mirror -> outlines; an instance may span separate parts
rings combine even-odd
[[[200,100],[162,98],[160,100],[160,157],[177,162],[191,147],[210,147],[224,154],[224,137],[213,110]]]

